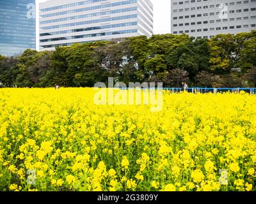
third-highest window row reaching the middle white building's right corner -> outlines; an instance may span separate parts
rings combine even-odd
[[[138,15],[134,14],[134,15],[119,16],[119,17],[111,17],[111,18],[100,18],[100,19],[86,20],[86,21],[75,22],[75,23],[70,23],[70,24],[52,25],[52,26],[42,27],[41,29],[48,30],[48,29],[56,29],[56,28],[61,28],[61,27],[71,27],[71,26],[76,26],[76,25],[96,24],[96,23],[100,23],[100,22],[123,20],[123,19],[129,19],[129,18],[137,18],[137,17],[138,17]]]

